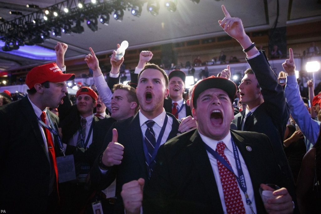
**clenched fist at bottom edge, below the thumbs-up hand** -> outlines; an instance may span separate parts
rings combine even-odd
[[[145,180],[139,178],[137,181],[131,181],[123,185],[121,197],[123,198],[126,213],[140,213],[143,201],[143,189]]]

